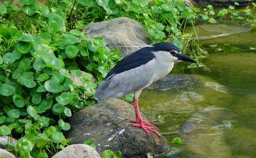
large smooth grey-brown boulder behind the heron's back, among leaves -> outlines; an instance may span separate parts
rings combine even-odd
[[[120,49],[120,55],[123,57],[141,47],[121,46],[141,46],[136,43],[148,44],[148,37],[139,22],[126,17],[91,23],[85,26],[83,33],[88,33],[90,37],[103,37],[106,45],[110,49]]]

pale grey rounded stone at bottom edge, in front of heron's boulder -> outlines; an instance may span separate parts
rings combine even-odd
[[[53,156],[53,158],[100,158],[100,155],[91,146],[74,144],[67,146]]]

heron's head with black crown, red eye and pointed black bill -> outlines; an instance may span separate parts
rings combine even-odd
[[[171,43],[167,43],[167,42],[156,43],[153,45],[153,47],[154,47],[154,51],[169,52],[169,55],[171,56],[171,60],[183,60],[186,62],[197,63],[196,60],[194,60],[193,58],[190,58],[189,56],[182,54],[181,50]]]

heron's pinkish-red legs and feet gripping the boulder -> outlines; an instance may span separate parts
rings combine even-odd
[[[130,122],[131,123],[139,123],[139,125],[132,125],[132,126],[137,127],[137,128],[142,128],[146,132],[146,134],[148,134],[148,135],[149,135],[148,131],[151,131],[151,132],[154,132],[154,134],[156,134],[157,136],[160,137],[160,134],[158,133],[158,131],[156,131],[156,127],[154,125],[152,125],[151,123],[148,123],[148,121],[142,120],[137,99],[134,99],[134,108],[135,108],[136,120],[130,120]]]

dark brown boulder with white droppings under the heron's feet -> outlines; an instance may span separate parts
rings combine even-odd
[[[127,119],[134,119],[131,104],[119,99],[110,99],[81,109],[68,121],[71,125],[67,138],[70,144],[84,140],[95,142],[98,152],[104,149],[121,151],[123,157],[146,157],[147,153],[165,155],[169,146],[165,138],[131,127]]]

